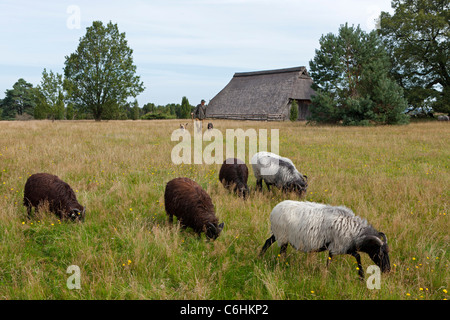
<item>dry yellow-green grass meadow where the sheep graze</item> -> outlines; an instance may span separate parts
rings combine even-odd
[[[345,205],[387,235],[381,288],[368,289],[347,255],[328,269],[326,252],[289,247],[279,257],[273,245],[259,258],[272,208],[295,195],[255,192],[249,166],[243,201],[219,183],[220,165],[174,165],[177,120],[28,121],[0,122],[0,299],[448,299],[448,123],[214,125],[279,129],[280,154],[308,176],[305,200]],[[76,190],[84,223],[27,219],[23,187],[36,172]],[[225,222],[216,241],[168,224],[164,188],[179,176],[211,195]],[[361,256],[364,269],[373,264]],[[70,265],[80,268],[79,290],[67,287]]]

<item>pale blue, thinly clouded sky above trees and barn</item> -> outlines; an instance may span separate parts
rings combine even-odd
[[[142,107],[209,102],[235,72],[306,66],[345,24],[375,28],[391,0],[1,0],[0,99],[24,78],[63,74],[93,21],[117,23],[133,49]]]

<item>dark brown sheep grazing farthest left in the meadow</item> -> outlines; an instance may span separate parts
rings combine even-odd
[[[78,203],[66,182],[49,173],[35,173],[28,177],[24,188],[23,205],[27,207],[28,217],[31,218],[32,207],[37,212],[45,203],[60,219],[84,221],[86,208]]]

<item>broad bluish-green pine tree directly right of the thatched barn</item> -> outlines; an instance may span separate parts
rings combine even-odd
[[[316,95],[309,120],[344,125],[405,123],[402,89],[390,79],[390,61],[375,31],[341,25],[319,40],[310,61]]]

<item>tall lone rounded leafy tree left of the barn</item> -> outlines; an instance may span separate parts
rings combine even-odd
[[[94,21],[80,39],[75,53],[66,56],[65,88],[77,108],[100,121],[104,114],[117,114],[118,106],[144,91],[136,76],[133,50],[117,24]]]

